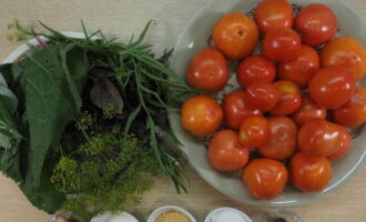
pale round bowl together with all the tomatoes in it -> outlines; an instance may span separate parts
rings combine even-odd
[[[293,206],[342,188],[366,155],[366,26],[340,0],[213,0],[174,71],[199,91],[170,114],[181,150],[222,193]]]

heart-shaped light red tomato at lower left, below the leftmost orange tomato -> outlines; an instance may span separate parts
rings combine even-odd
[[[238,135],[234,131],[220,131],[210,142],[209,160],[220,171],[241,170],[247,163],[248,157],[248,150],[240,144]]]

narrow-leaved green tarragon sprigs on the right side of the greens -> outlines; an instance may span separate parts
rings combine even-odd
[[[142,129],[143,133],[135,134],[151,148],[162,171],[173,179],[177,191],[186,191],[184,164],[176,158],[176,150],[172,149],[180,142],[171,132],[167,112],[176,111],[184,100],[196,92],[167,67],[172,51],[165,51],[156,59],[152,53],[152,46],[143,43],[152,22],[146,24],[138,40],[132,38],[128,44],[116,42],[115,39],[109,40],[101,31],[88,34],[84,26],[84,39],[64,37],[44,24],[42,26],[50,34],[33,36],[45,37],[49,44],[78,43],[85,49],[92,70],[105,69],[112,72],[91,75],[95,81],[94,89],[98,87],[108,91],[114,98],[108,105],[112,104],[116,110],[121,107],[119,95],[122,98],[123,113],[128,113],[123,123],[124,133],[129,134],[133,124]],[[91,101],[105,111],[105,103],[104,107],[96,103],[92,91],[93,89],[90,90]],[[116,92],[119,95],[115,95]]]

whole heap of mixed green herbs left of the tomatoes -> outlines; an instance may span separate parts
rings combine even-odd
[[[41,43],[0,68],[0,169],[33,205],[87,221],[138,201],[159,171],[186,191],[167,112],[195,92],[169,69],[171,52],[156,59],[143,43],[150,24],[129,43],[10,26]]]

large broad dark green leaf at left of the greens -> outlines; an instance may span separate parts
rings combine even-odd
[[[82,48],[60,43],[34,50],[31,57],[12,64],[12,70],[17,72],[8,73],[21,77],[13,79],[19,80],[23,110],[13,115],[18,118],[18,125],[12,124],[19,127],[27,139],[12,148],[2,149],[4,164],[1,169],[19,182],[35,206],[51,213],[64,200],[64,195],[50,183],[57,161],[54,155],[59,150],[57,144],[65,127],[80,112],[80,95],[88,69]],[[7,169],[3,165],[8,165]]]

